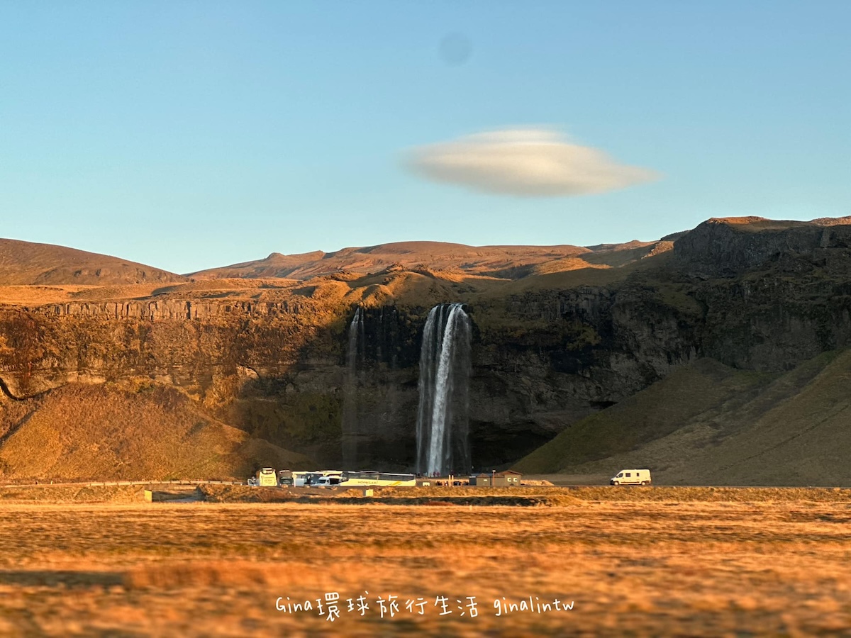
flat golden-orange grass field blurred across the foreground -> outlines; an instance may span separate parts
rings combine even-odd
[[[22,498],[26,488],[15,489]],[[851,630],[848,490],[520,488],[513,500],[500,498],[505,491],[489,500],[475,489],[435,489],[433,500],[425,493],[412,492],[408,505],[387,504],[404,503],[403,490],[310,504],[4,499],[0,635]],[[496,504],[524,496],[539,506]],[[370,609],[346,611],[346,599],[364,591]],[[327,592],[341,599],[333,624],[315,611],[276,609],[278,596],[303,602]],[[397,595],[399,612],[380,618],[377,600],[388,595]],[[452,611],[444,616],[434,605],[441,595]],[[494,600],[530,595],[574,608],[495,615]],[[477,618],[460,616],[455,601],[467,596]],[[424,613],[408,612],[405,601],[420,597]]]

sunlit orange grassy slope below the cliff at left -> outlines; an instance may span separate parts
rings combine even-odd
[[[178,390],[68,385],[0,403],[0,478],[243,478],[310,464],[203,413]]]

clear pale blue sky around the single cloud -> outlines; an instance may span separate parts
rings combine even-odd
[[[0,0],[0,236],[186,272],[847,215],[849,24],[845,0]],[[408,168],[505,129],[656,178],[534,197]]]

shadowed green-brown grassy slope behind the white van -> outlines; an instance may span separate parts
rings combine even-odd
[[[700,361],[583,419],[521,460],[527,473],[648,467],[665,484],[851,484],[851,352],[772,378]]]

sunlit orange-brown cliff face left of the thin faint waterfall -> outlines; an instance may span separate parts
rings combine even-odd
[[[0,310],[7,345],[0,377],[15,397],[75,382],[152,379],[179,387],[208,412],[234,411],[243,429],[288,430],[277,440],[321,448],[334,430],[341,324],[302,313],[302,305],[193,299],[7,307]],[[274,405],[283,421],[273,419],[275,410],[258,414],[254,402]]]

